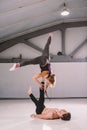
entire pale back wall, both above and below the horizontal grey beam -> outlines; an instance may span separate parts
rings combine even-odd
[[[31,43],[44,48],[48,34],[30,39]],[[87,27],[70,28],[66,30],[65,51],[69,55],[87,38]],[[53,32],[50,52],[57,54],[61,51],[61,32]],[[18,44],[2,53],[0,58],[18,57],[34,58],[41,55],[31,47]],[[87,44],[85,44],[74,58],[87,57]],[[26,98],[28,86],[33,86],[33,92],[38,96],[38,85],[32,80],[35,73],[40,71],[39,66],[26,66],[15,72],[9,72],[13,64],[0,64],[0,98]],[[52,69],[56,73],[57,84],[54,89],[49,88],[50,97],[87,97],[87,62],[85,63],[52,63]]]

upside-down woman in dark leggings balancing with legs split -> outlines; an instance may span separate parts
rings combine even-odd
[[[10,71],[15,70],[16,68],[26,66],[26,65],[36,65],[39,64],[41,72],[38,74],[35,74],[33,79],[41,86],[41,82],[39,81],[39,78],[42,78],[42,81],[45,81],[46,83],[46,89],[45,92],[47,92],[48,86],[53,87],[55,85],[55,74],[51,72],[51,65],[49,62],[49,46],[51,43],[51,35],[49,35],[47,43],[45,45],[45,48],[42,52],[42,55],[39,57],[36,57],[32,60],[26,60],[21,63],[16,63],[13,65],[13,67],[10,69]]]

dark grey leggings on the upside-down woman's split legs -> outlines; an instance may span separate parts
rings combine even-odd
[[[39,64],[39,65],[45,65],[47,60],[49,60],[49,45],[51,43],[51,36],[49,36],[47,43],[44,47],[44,50],[42,52],[42,55],[39,57],[36,57],[32,60],[26,60],[20,63],[20,67],[22,66],[26,66],[26,65],[35,65],[35,64]]]

